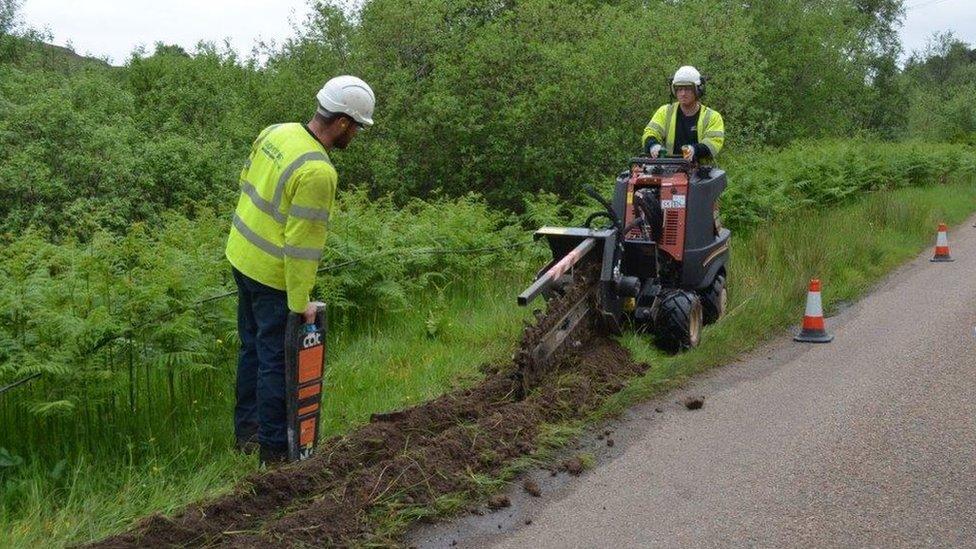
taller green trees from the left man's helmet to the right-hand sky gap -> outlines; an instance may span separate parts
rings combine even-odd
[[[304,97],[333,70],[375,83],[378,125],[343,158],[356,180],[511,207],[618,169],[681,64],[711,77],[733,149],[870,127],[900,5],[374,0],[355,25],[320,7],[269,68]]]

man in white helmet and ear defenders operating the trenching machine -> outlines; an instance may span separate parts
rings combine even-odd
[[[714,109],[701,104],[705,82],[698,69],[685,65],[671,79],[676,103],[662,105],[644,128],[644,152],[657,158],[681,153],[686,160],[714,161],[725,143],[725,122]]]

